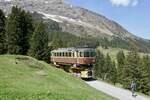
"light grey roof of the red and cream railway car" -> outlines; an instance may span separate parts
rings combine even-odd
[[[59,48],[56,50],[52,50],[51,52],[74,52],[74,51],[94,51],[93,48]]]

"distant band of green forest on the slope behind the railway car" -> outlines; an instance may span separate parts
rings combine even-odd
[[[55,25],[57,23],[55,22]],[[53,26],[54,24],[51,24]],[[48,24],[48,26],[50,26]],[[59,27],[59,25],[57,25]],[[56,27],[56,26],[55,26]],[[58,29],[56,27],[56,29]],[[53,26],[54,29],[54,26]],[[136,47],[139,52],[149,52],[150,44],[147,42],[143,42],[142,40],[137,40],[137,43],[132,43],[132,41],[126,41],[124,39],[121,39],[119,37],[111,37],[112,39],[108,39],[106,37],[91,37],[91,36],[76,36],[67,32],[62,32],[61,29],[58,31],[51,32],[51,29],[48,29],[49,31],[49,42],[55,47],[78,47],[78,46],[88,46],[92,48],[97,48],[98,46],[101,46],[103,48],[123,48],[130,50],[132,47]],[[56,38],[57,37],[57,38]],[[149,46],[148,46],[149,45]]]

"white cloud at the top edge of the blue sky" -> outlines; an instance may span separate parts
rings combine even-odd
[[[110,2],[115,6],[136,6],[139,3],[138,0],[110,0]]]

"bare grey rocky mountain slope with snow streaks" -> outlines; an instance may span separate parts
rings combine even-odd
[[[150,51],[150,42],[128,32],[118,23],[84,8],[66,4],[64,0],[0,0],[0,8],[6,14],[13,5],[36,12],[45,20],[59,23],[63,32],[81,37],[106,37],[134,44],[142,51]]]

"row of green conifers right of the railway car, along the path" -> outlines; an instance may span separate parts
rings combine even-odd
[[[130,89],[131,82],[136,81],[137,91],[150,95],[150,56],[141,57],[136,50],[132,50],[127,55],[119,51],[116,58],[117,61],[113,61],[109,54],[105,56],[97,50],[95,78],[120,83],[126,89]]]

